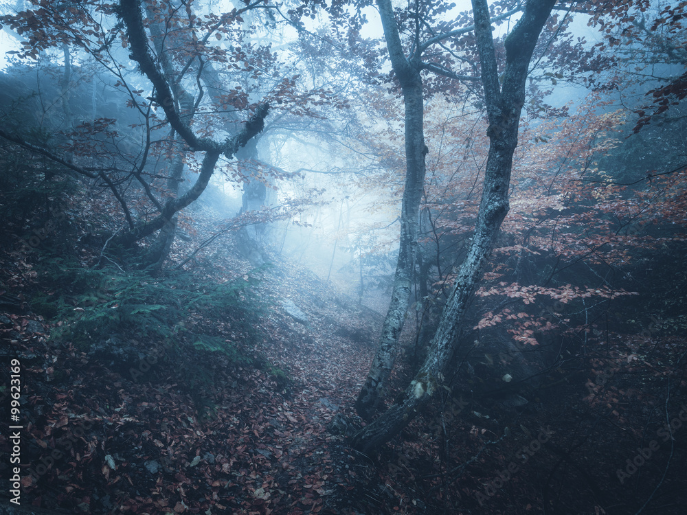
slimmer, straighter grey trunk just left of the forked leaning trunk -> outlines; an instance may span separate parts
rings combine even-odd
[[[405,323],[418,244],[420,201],[425,184],[425,146],[423,82],[420,77],[420,54],[407,59],[403,54],[398,25],[394,20],[391,0],[377,0],[384,36],[394,73],[401,82],[405,102],[405,190],[401,203],[401,242],[392,290],[391,304],[382,325],[379,348],[372,361],[355,409],[365,420],[374,415],[382,397],[386,380],[396,360],[398,336]]]

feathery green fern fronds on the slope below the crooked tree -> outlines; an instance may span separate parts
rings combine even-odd
[[[178,339],[183,331],[174,328],[189,312],[216,320],[231,318],[249,331],[262,311],[247,282],[212,284],[190,273],[153,279],[144,271],[95,270],[64,260],[44,262],[41,273],[44,284],[54,285],[60,293],[37,295],[32,308],[62,322],[55,337],[69,338],[81,347],[113,334]]]

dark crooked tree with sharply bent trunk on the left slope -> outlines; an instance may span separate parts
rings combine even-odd
[[[141,266],[153,266],[155,269],[159,268],[168,253],[174,237],[177,212],[194,202],[205,190],[221,155],[232,159],[240,148],[260,133],[269,111],[267,102],[254,106],[253,115],[245,126],[232,131],[233,134],[223,141],[213,141],[207,137],[209,131],[205,127],[192,127],[194,113],[201,106],[204,95],[200,78],[206,64],[205,60],[210,61],[207,66],[211,68],[212,60],[223,61],[227,56],[227,52],[206,43],[213,34],[221,38],[221,34],[227,31],[226,25],[240,19],[240,12],[235,9],[223,14],[219,19],[210,16],[209,21],[201,22],[196,20],[190,6],[187,7],[184,11],[172,9],[165,4],[148,3],[148,16],[144,19],[142,4],[137,0],[124,0],[116,5],[96,1],[80,5],[43,5],[14,16],[3,16],[4,23],[8,23],[20,35],[28,36],[23,56],[35,57],[38,52],[50,47],[62,45],[66,48],[67,42],[72,42],[117,76],[117,86],[126,91],[129,104],[142,114],[142,125],[145,127],[143,148],[135,149],[133,155],[122,155],[120,162],[112,167],[101,165],[89,168],[80,165],[79,159],[72,161],[60,155],[58,151],[36,146],[19,135],[5,130],[0,135],[29,150],[46,155],[80,176],[100,180],[106,184],[120,203],[126,219],[126,227],[117,231],[109,241],[112,244],[131,247],[134,242],[160,231],[157,241],[142,255],[141,262]],[[175,15],[179,11],[185,12],[185,21],[180,21]],[[54,27],[57,29],[54,30]],[[165,44],[168,32],[172,29],[181,34],[177,38],[181,44],[177,47]],[[197,34],[202,36],[199,37]],[[142,95],[144,89],[136,89],[131,84],[136,81],[134,78],[129,82],[124,77],[123,70],[126,67],[118,62],[122,60],[121,52],[113,49],[116,38],[121,38],[122,47],[128,47],[131,52],[129,57],[137,62],[139,71],[150,80],[153,91],[148,98]],[[150,46],[149,41],[153,43]],[[65,51],[65,67],[69,65],[68,57]],[[174,66],[180,60],[185,62],[185,67]],[[195,95],[186,91],[189,88],[190,71],[196,73],[194,82],[198,90]],[[212,97],[217,100],[217,95]],[[164,119],[157,117],[157,111],[164,113]],[[238,119],[235,121],[238,122]],[[86,126],[91,134],[97,135],[107,130],[114,122],[115,120],[109,119],[95,121]],[[158,180],[158,184],[155,185],[155,179],[160,177],[150,172],[149,161],[155,159],[156,153],[157,157],[160,157],[161,145],[160,141],[151,140],[151,135],[156,126],[165,124],[169,124],[172,130],[172,154],[168,175],[161,177],[164,183]],[[185,148],[179,148],[180,146]],[[192,187],[179,195],[177,187],[184,163],[187,161],[185,156],[188,156],[189,152],[201,152],[203,155],[199,163],[199,175]],[[82,148],[81,155],[86,154],[87,148]],[[126,170],[124,167],[120,168],[123,163],[133,165]],[[132,216],[122,188],[122,184],[128,183],[131,179],[143,188],[147,201],[155,212],[153,216],[146,213],[138,220]]]

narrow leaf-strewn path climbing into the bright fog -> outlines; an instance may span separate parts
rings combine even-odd
[[[327,426],[338,413],[353,415],[381,317],[310,271],[280,268],[267,283],[274,305],[260,324],[260,352],[290,382],[278,393],[258,389],[262,399],[252,404],[257,424],[247,443],[254,470],[242,479],[243,494],[253,499],[245,497],[243,507],[266,514],[346,513],[337,503],[352,489],[352,459],[345,439]],[[307,321],[291,317],[284,301]]]

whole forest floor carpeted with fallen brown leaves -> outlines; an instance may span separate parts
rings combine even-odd
[[[364,456],[348,437],[361,424],[352,404],[381,314],[289,260],[273,256],[256,270],[232,255],[227,247],[196,266],[254,281],[262,307],[250,330],[194,311],[175,326],[238,342],[239,354],[194,354],[131,331],[119,342],[138,358],[122,364],[52,336],[62,322],[30,309],[45,289],[38,263],[2,251],[2,384],[18,359],[23,467],[21,507],[3,488],[0,514],[620,514],[636,512],[655,485],[662,513],[681,512],[684,463],[673,461],[663,479],[663,459],[620,483],[616,470],[641,446],[647,407],[663,406],[659,378],[675,374],[666,356],[679,357],[682,340],[611,341],[603,356],[585,356],[604,380],[589,382],[582,362],[570,361],[545,371],[526,409],[471,398],[477,385],[456,381],[379,455]],[[290,315],[289,301],[302,314]],[[417,365],[403,345],[387,402]],[[676,442],[671,457],[684,455],[684,438]],[[9,455],[4,433],[0,448]],[[1,477],[8,466],[3,458]]]

